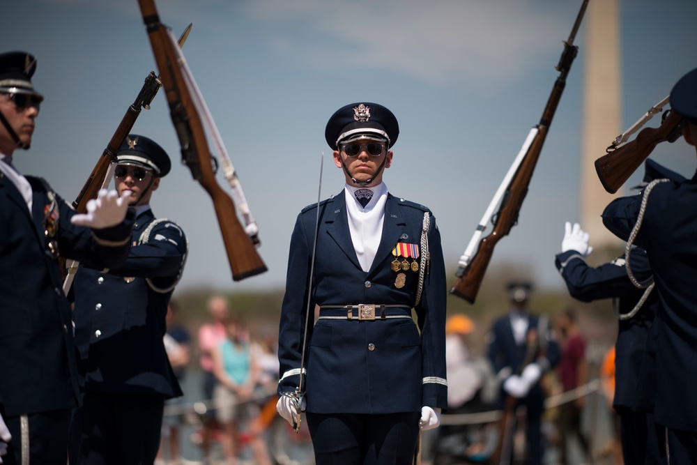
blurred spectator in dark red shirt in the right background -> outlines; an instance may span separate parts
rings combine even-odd
[[[556,318],[560,335],[561,356],[556,367],[564,392],[574,390],[588,382],[588,360],[585,359],[585,339],[576,326],[576,312],[568,308]],[[588,459],[588,437],[581,428],[581,416],[585,396],[577,397],[559,406],[558,427],[560,434],[560,463],[569,463],[569,441],[572,436],[581,448],[582,462]]]

